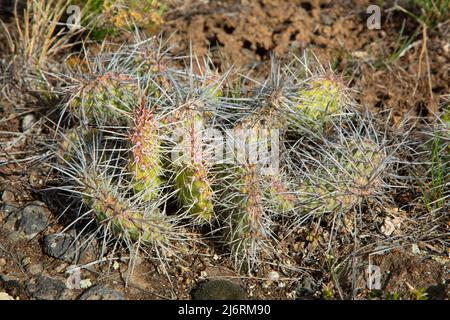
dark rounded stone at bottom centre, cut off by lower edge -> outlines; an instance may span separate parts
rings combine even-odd
[[[245,300],[245,291],[226,279],[212,279],[200,284],[193,295],[194,300]]]

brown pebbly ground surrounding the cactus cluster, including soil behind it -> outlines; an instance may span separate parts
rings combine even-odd
[[[381,30],[368,30],[371,1],[365,0],[166,2],[161,31],[170,36],[173,54],[209,53],[219,70],[233,66],[258,79],[272,54],[283,60],[308,50],[345,77],[361,105],[389,112],[394,127],[405,119],[425,122],[450,92],[448,21],[420,33],[405,14],[388,10],[389,1]],[[297,264],[267,265],[252,275],[236,273],[220,250],[200,245],[168,274],[146,259],[131,265],[125,253],[66,228],[69,202],[52,189],[57,181],[43,164],[52,140],[49,109],[22,100],[0,100],[0,299],[364,299],[386,293],[406,299],[421,291],[431,299],[449,297],[448,212],[425,214],[409,200],[373,213],[366,223],[376,236],[357,252],[352,243],[335,248],[333,258],[324,254],[330,235],[321,226],[313,237],[305,227],[281,244]],[[382,231],[388,217],[401,221],[394,235]],[[369,263],[380,267],[381,293],[365,288]]]

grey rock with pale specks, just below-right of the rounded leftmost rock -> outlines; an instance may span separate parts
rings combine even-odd
[[[76,238],[69,234],[49,234],[44,237],[44,253],[56,259],[74,261],[77,257],[76,247]]]

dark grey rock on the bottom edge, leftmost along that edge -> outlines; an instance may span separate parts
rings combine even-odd
[[[65,282],[47,276],[39,276],[34,283],[30,282],[26,289],[28,295],[37,300],[60,300],[67,298]]]

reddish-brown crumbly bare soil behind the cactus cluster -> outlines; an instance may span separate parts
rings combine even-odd
[[[389,63],[400,47],[405,16],[383,13],[381,30],[369,30],[368,0],[174,2],[176,9],[167,14],[163,29],[172,35],[175,51],[187,52],[192,45],[200,56],[211,52],[222,69],[234,66],[258,76],[267,74],[271,54],[281,59],[308,50],[344,73],[364,105],[393,110],[397,117],[436,112],[441,96],[450,92],[448,24],[428,32],[426,43],[418,36],[402,57]],[[416,29],[407,20],[404,35]]]

